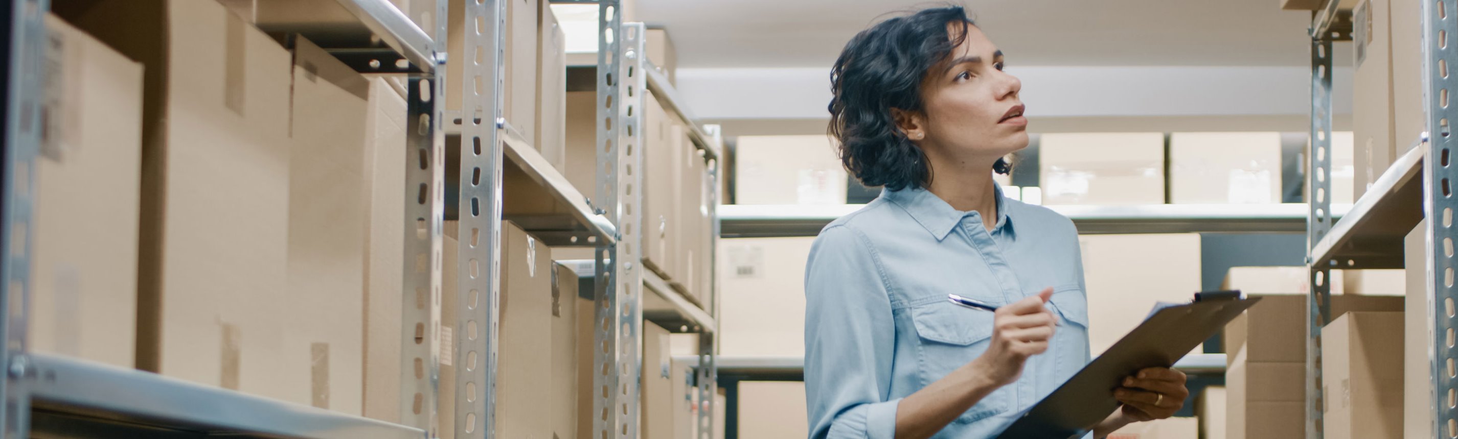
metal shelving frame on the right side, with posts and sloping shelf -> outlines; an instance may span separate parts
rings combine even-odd
[[[1371,189],[1334,221],[1331,193],[1331,45],[1336,41],[1352,39],[1350,12],[1340,10],[1340,0],[1328,0],[1312,15],[1311,23],[1311,147],[1306,185],[1311,193],[1306,240],[1311,249],[1311,295],[1306,307],[1306,438],[1319,439],[1322,432],[1322,368],[1321,327],[1331,321],[1331,288],[1327,279],[1331,269],[1391,269],[1404,267],[1403,238],[1423,218],[1429,218],[1427,243],[1427,295],[1433,320],[1429,334],[1433,334],[1429,350],[1430,394],[1433,410],[1429,438],[1458,438],[1458,411],[1455,411],[1455,372],[1452,361],[1454,311],[1452,302],[1458,291],[1452,286],[1454,254],[1452,209],[1458,201],[1452,196],[1458,169],[1449,161],[1454,141],[1449,137],[1449,119],[1458,119],[1458,112],[1448,106],[1448,93],[1454,78],[1448,77],[1448,64],[1458,61],[1449,48],[1448,35],[1458,32],[1451,15],[1458,13],[1458,1],[1423,1],[1422,54],[1423,92],[1427,108],[1427,132],[1398,132],[1408,140],[1416,138],[1413,148],[1398,157]],[[1432,134],[1432,135],[1430,135]],[[1419,174],[1422,179],[1419,179]],[[1438,221],[1442,218],[1442,221]],[[1443,246],[1435,246],[1443,243]],[[1448,304],[1438,307],[1435,304]],[[1408,408],[1420,410],[1420,408]],[[1441,436],[1439,436],[1441,435]]]

